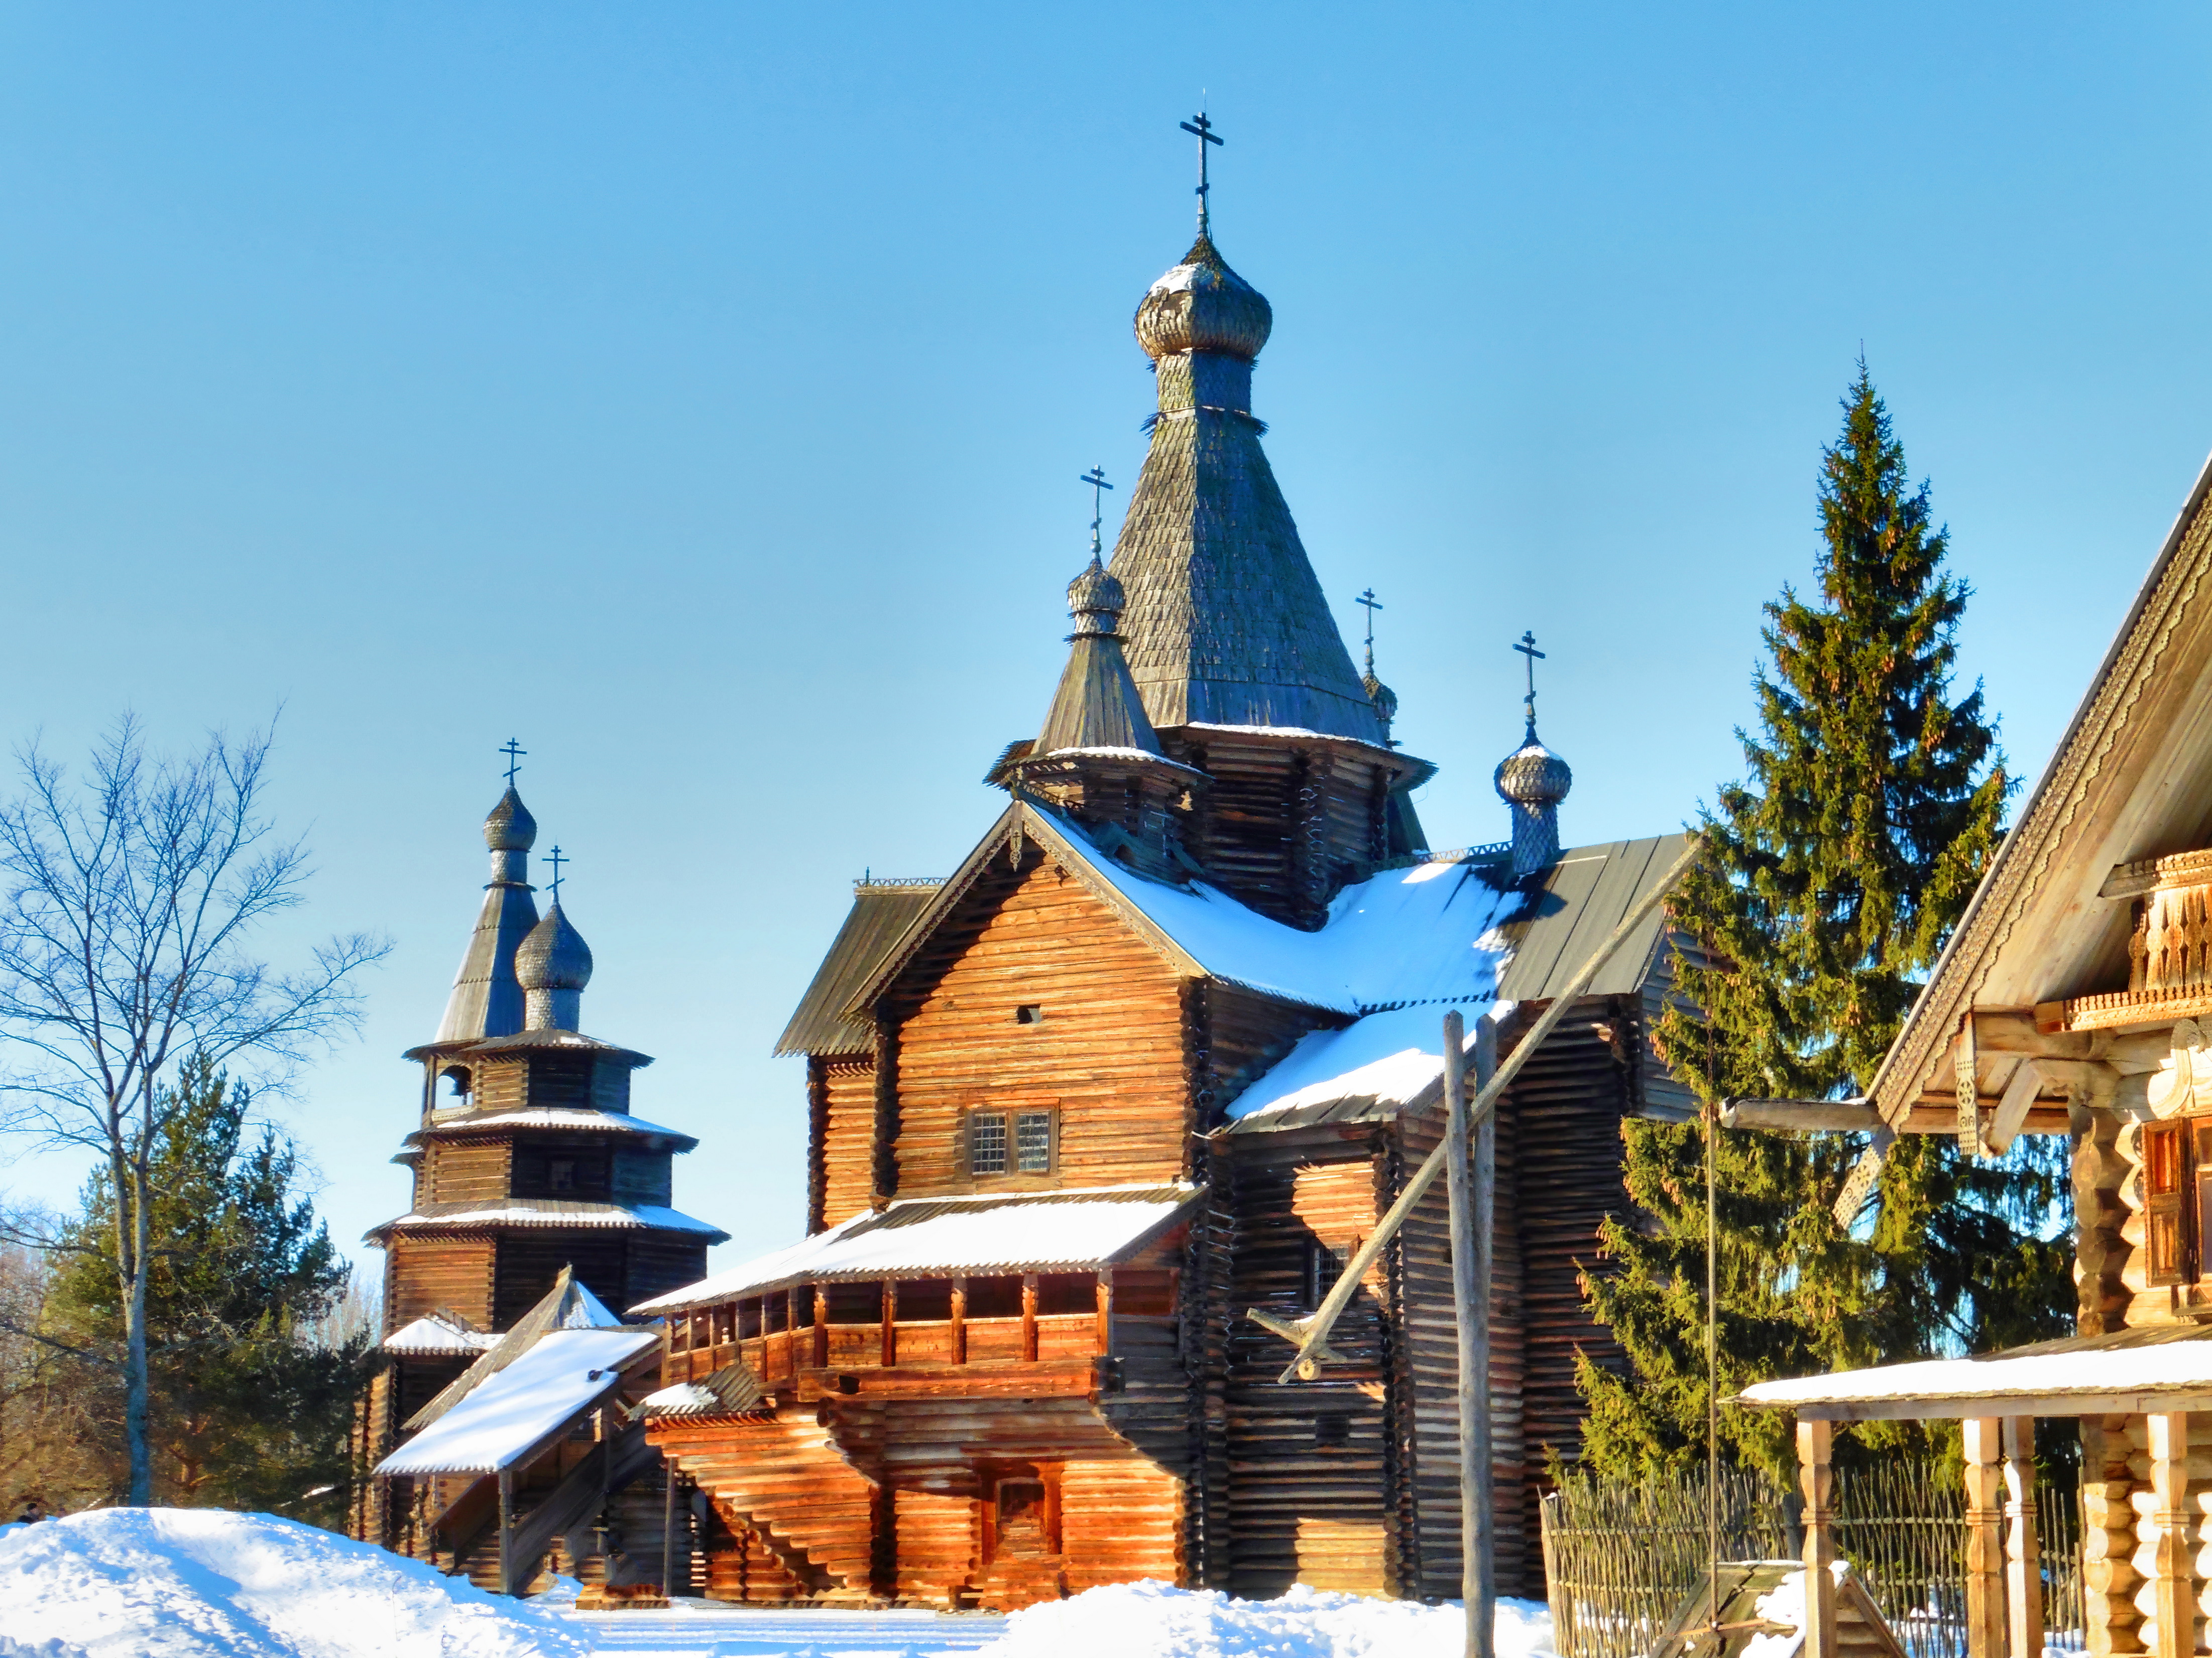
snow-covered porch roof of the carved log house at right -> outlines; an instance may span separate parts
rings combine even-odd
[[[1874,1417],[1891,1415],[1880,1410],[1885,1404],[1913,1406],[1913,1415],[1936,1417],[1947,1415],[1940,1406],[1955,1404],[1973,1406],[1958,1410],[1958,1415],[2000,1417],[2020,1415],[2000,1408],[2006,1399],[2093,1404],[2106,1395],[2212,1397],[2212,1340],[2208,1340],[2212,1329],[2170,1324],[2115,1331],[2115,1335],[2121,1340],[2081,1337],[1969,1360],[1913,1360],[1911,1364],[1876,1364],[1865,1371],[1836,1371],[1792,1382],[1759,1382],[1743,1391],[1741,1402],[1767,1408],[1807,1408],[1807,1415],[1829,1415],[1820,1406],[1874,1406],[1865,1413]]]

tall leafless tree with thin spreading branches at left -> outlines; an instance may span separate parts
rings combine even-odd
[[[82,780],[31,745],[0,805],[0,1125],[106,1163],[124,1309],[128,1501],[153,1501],[146,1280],[150,1167],[192,1054],[248,1057],[270,1079],[361,1017],[356,977],[389,948],[367,933],[279,973],[250,953],[301,902],[307,856],[270,822],[265,732],[150,758],[124,718]]]

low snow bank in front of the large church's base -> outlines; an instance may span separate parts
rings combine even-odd
[[[1498,1658],[1551,1658],[1551,1612],[1498,1603]],[[1462,1658],[1458,1605],[1294,1587],[1281,1601],[1115,1583],[1015,1612],[975,1658]]]

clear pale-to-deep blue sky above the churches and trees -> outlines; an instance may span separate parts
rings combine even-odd
[[[327,931],[279,1119],[352,1247],[478,906],[495,747],[575,856],[586,1030],[803,1220],[768,1057],[863,869],[942,875],[1062,663],[1208,99],[1267,449],[1438,844],[1535,628],[1568,840],[1732,776],[1865,347],[2033,774],[2208,444],[2194,4],[0,4],[0,734],[283,707]],[[1356,643],[1354,643],[1356,650]],[[18,1196],[77,1167],[7,1150]],[[374,1251],[365,1251],[376,1260]]]

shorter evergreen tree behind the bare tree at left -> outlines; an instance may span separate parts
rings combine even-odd
[[[192,1057],[170,1105],[148,1216],[157,1501],[334,1517],[361,1340],[327,1346],[316,1324],[345,1293],[347,1265],[314,1203],[292,1189],[296,1147],[274,1127],[250,1132],[246,1088]],[[122,1346],[113,1238],[115,1192],[102,1172],[86,1183],[46,1298],[53,1331],[91,1355]],[[97,1415],[119,1457],[119,1395]],[[305,1499],[319,1486],[341,1490]]]

